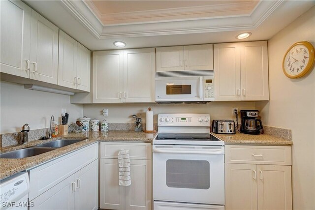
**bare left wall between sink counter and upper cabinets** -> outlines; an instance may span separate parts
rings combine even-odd
[[[0,82],[0,133],[21,131],[29,123],[30,129],[49,127],[52,115],[61,116],[62,108],[69,113],[69,122],[83,115],[83,106],[70,104],[70,96],[24,89],[23,85]]]

